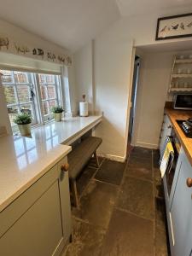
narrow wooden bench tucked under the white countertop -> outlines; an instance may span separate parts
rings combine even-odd
[[[86,166],[87,162],[90,160],[93,154],[96,157],[96,165],[99,167],[96,149],[101,143],[102,138],[100,137],[86,137],[81,143],[79,143],[78,146],[72,150],[72,152],[68,154],[69,180],[75,207],[79,207],[76,178],[79,176],[80,172],[83,171],[84,166]]]

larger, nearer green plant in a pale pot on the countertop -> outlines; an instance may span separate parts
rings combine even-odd
[[[31,123],[32,117],[28,113],[19,113],[14,119],[15,124],[18,125],[21,136],[26,136],[31,134]]]

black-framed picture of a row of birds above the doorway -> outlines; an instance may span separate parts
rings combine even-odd
[[[175,15],[157,20],[156,40],[192,37],[192,14]]]

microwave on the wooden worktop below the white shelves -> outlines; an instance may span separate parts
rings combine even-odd
[[[176,94],[173,100],[173,108],[192,110],[192,94]]]

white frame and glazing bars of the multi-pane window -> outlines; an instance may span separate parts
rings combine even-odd
[[[12,82],[3,82],[2,79],[2,84],[3,88],[5,86],[13,86],[14,89],[14,96],[15,96],[15,103],[7,103],[6,101],[6,107],[15,107],[18,109],[18,113],[21,113],[20,106],[23,105],[31,105],[32,106],[32,127],[35,125],[44,125],[46,122],[49,122],[54,118],[53,113],[50,111],[50,105],[49,105],[49,113],[44,115],[44,108],[43,108],[43,102],[51,102],[55,101],[56,105],[63,105],[63,95],[62,95],[62,83],[61,83],[61,74],[57,73],[33,73],[32,71],[20,71],[17,70],[16,68],[13,70],[9,70],[6,68],[1,68],[1,72],[3,73],[4,71],[9,71],[11,73],[11,78]],[[15,81],[15,73],[21,72],[26,75],[27,78],[27,83],[16,83]],[[45,83],[41,84],[39,80],[39,75],[52,75],[54,76],[54,83]],[[31,96],[31,90],[34,93],[34,97],[32,97],[32,100],[29,102],[20,102],[19,96],[18,96],[18,90],[17,90],[17,85],[27,85],[28,86],[28,92],[29,92],[29,97]],[[54,98],[49,98],[48,95],[48,86],[53,85],[55,88],[55,97]],[[42,99],[41,96],[41,86],[46,86],[46,91],[47,91],[47,98]],[[10,117],[9,117],[10,119]],[[10,125],[12,128],[13,133],[17,133],[15,130],[16,124],[13,124],[10,120]]]

